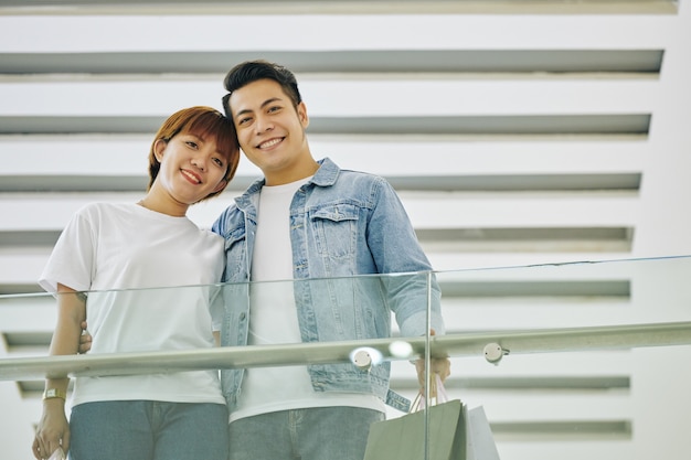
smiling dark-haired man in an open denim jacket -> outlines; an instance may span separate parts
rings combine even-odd
[[[432,267],[391,185],[313,159],[307,108],[287,68],[245,62],[224,83],[226,116],[264,179],[213,225],[225,238],[231,284],[222,345],[386,338],[392,311],[402,335],[425,334]],[[404,272],[418,275],[364,276]],[[294,281],[262,282],[274,280]],[[444,333],[432,280],[432,328]],[[448,375],[448,360],[435,365]],[[384,404],[402,407],[389,372],[387,363],[370,372],[353,364],[222,371],[231,459],[362,460]]]

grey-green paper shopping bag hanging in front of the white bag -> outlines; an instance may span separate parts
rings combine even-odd
[[[430,406],[428,410],[428,459],[465,460],[466,424],[461,402],[449,400]],[[364,460],[423,460],[424,458],[424,411],[415,411],[371,425]]]

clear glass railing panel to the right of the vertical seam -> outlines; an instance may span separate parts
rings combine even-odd
[[[467,341],[447,392],[483,407],[501,459],[687,458],[691,258],[437,277],[447,339]]]

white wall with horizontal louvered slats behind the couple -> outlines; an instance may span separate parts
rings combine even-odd
[[[691,254],[691,10],[665,0],[0,0],[0,293],[39,292],[79,206],[138,200],[159,124],[221,108],[246,58],[296,72],[317,157],[398,190],[449,332],[689,320],[685,266],[466,271]],[[192,217],[257,175],[242,161]],[[0,303],[0,357],[45,354],[53,325],[49,297]],[[455,359],[449,388],[502,460],[682,460],[690,356]],[[41,388],[0,382],[3,458],[31,458]]]

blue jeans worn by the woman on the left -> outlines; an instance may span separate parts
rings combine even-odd
[[[224,460],[222,404],[114,400],[79,404],[70,417],[72,460]]]

